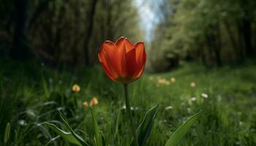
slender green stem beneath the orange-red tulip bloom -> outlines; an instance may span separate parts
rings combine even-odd
[[[128,115],[129,115],[129,123],[130,123],[130,126],[132,128],[132,135],[133,135],[133,138],[134,138],[134,141],[135,141],[135,145],[139,146],[138,145],[138,139],[137,139],[137,136],[136,136],[136,131],[135,131],[135,124],[133,123],[133,120],[132,120],[131,107],[129,106],[128,84],[124,84],[124,96],[125,96],[126,109],[127,109]]]

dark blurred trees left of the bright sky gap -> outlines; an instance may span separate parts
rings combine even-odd
[[[36,57],[53,66],[93,65],[105,39],[142,39],[133,0],[0,1],[0,34],[13,36],[13,41],[3,37],[0,44],[13,42],[12,58]]]

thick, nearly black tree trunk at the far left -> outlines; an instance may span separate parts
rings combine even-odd
[[[15,31],[10,56],[25,61],[32,57],[27,40],[29,0],[15,0]]]

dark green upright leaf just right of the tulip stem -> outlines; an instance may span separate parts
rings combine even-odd
[[[154,123],[154,118],[156,117],[158,110],[159,110],[159,104],[157,104],[156,106],[148,110],[142,122],[136,129],[138,144],[140,146],[144,145],[146,140],[148,139]],[[132,145],[135,145],[134,141],[132,141]]]

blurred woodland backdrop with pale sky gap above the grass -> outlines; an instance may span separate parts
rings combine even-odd
[[[143,40],[148,70],[182,60],[239,64],[255,54],[255,1],[1,0],[1,58],[93,66],[106,39]]]

